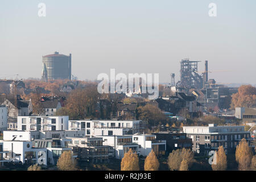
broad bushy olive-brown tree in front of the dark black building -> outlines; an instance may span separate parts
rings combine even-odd
[[[182,160],[187,160],[188,163],[188,168],[191,166],[193,162],[193,152],[190,149],[182,148],[173,150],[170,155],[168,156],[168,166],[171,170],[179,170],[180,169],[180,164]]]

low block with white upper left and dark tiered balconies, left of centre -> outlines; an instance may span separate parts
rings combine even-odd
[[[71,137],[68,146],[72,148],[73,156],[79,162],[105,163],[109,162],[109,146],[102,144],[98,137]]]

